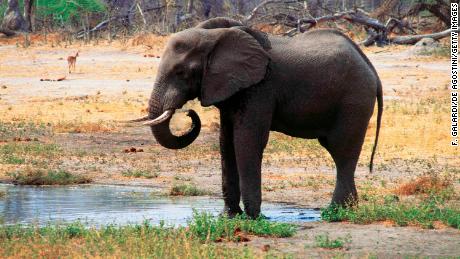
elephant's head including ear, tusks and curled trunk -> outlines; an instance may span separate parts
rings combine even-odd
[[[145,121],[158,143],[180,149],[200,132],[198,115],[188,111],[190,130],[175,136],[169,123],[176,109],[198,98],[203,106],[222,102],[260,82],[266,74],[268,38],[241,23],[215,18],[171,36],[159,64]]]

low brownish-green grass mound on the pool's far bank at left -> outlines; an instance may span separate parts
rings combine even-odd
[[[24,171],[10,173],[13,183],[20,185],[68,185],[89,183],[89,178],[73,175],[64,170],[48,170],[27,168]]]

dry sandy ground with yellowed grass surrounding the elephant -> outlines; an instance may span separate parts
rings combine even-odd
[[[10,181],[10,172],[30,167],[59,168],[88,175],[96,183],[146,185],[166,192],[186,182],[220,195],[214,108],[202,108],[197,101],[187,104],[200,114],[203,130],[192,145],[177,151],[159,146],[148,128],[116,122],[145,114],[165,40],[141,35],[83,44],[51,35],[46,42],[37,36],[24,48],[21,38],[0,39],[0,145],[55,148],[24,153],[25,161],[4,160],[0,179]],[[77,71],[67,74],[66,57],[76,50]],[[435,173],[448,175],[458,193],[459,149],[449,144],[449,60],[415,57],[408,47],[372,47],[365,52],[382,79],[385,111],[373,174],[368,161],[375,116],[369,126],[356,173],[358,192],[393,193],[402,183]],[[148,54],[153,57],[145,57]],[[66,80],[61,82],[40,81],[63,76]],[[9,123],[14,124],[11,129]],[[185,116],[175,115],[172,128],[180,132],[188,123]],[[23,142],[27,138],[32,141]],[[131,147],[143,152],[126,153]],[[156,177],[123,176],[136,170]],[[263,163],[264,200],[324,207],[334,183],[332,160],[316,140],[271,134]],[[270,244],[271,249],[299,257],[459,256],[460,231],[439,228],[309,223],[293,238],[255,238],[249,245]],[[351,242],[339,251],[314,248],[314,236],[326,232],[332,237],[350,235]]]

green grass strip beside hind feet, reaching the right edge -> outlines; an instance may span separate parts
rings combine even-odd
[[[441,196],[430,195],[421,202],[400,202],[399,199],[383,198],[363,201],[354,207],[329,206],[321,211],[325,221],[350,221],[369,224],[390,220],[398,226],[418,225],[434,228],[436,221],[460,229],[460,208],[445,205]]]

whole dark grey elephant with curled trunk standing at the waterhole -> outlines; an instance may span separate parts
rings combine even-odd
[[[373,159],[383,112],[382,84],[361,49],[341,32],[318,29],[292,38],[268,36],[230,18],[213,18],[173,34],[159,63],[143,121],[169,149],[199,135],[171,133],[176,109],[198,98],[220,113],[224,212],[256,218],[262,202],[261,165],[270,131],[318,139],[336,165],[332,203],[357,202],[354,173],[377,100]]]

